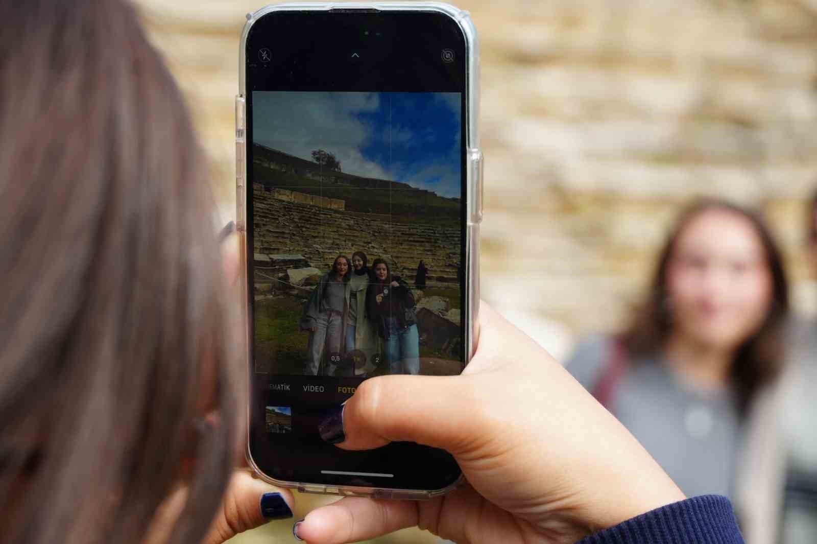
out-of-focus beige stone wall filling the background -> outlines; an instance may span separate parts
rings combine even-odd
[[[248,0],[139,0],[203,134],[227,218]],[[620,326],[678,207],[763,207],[814,311],[814,0],[462,0],[482,46],[484,297],[556,354]]]

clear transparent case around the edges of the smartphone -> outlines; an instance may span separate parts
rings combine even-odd
[[[466,183],[467,183],[467,202],[465,203],[467,209],[467,228],[466,228],[466,274],[468,292],[466,297],[467,316],[469,327],[466,331],[466,346],[468,360],[474,354],[475,349],[475,323],[478,318],[480,309],[480,222],[482,221],[483,210],[483,156],[480,149],[480,134],[479,134],[479,112],[480,112],[480,50],[479,43],[476,37],[476,30],[471,15],[468,11],[459,9],[444,2],[292,2],[273,4],[262,7],[254,13],[247,15],[247,23],[244,25],[241,42],[239,44],[239,96],[235,100],[235,203],[236,203],[236,221],[237,230],[241,238],[241,263],[242,263],[242,299],[244,314],[248,319],[245,323],[249,323],[249,305],[248,305],[248,266],[247,256],[251,251],[247,247],[247,139],[245,132],[245,51],[247,45],[247,38],[252,25],[266,14],[272,11],[329,11],[338,8],[370,8],[381,11],[431,11],[441,13],[449,16],[457,22],[462,29],[462,33],[466,40],[467,51],[467,66],[466,66],[466,153],[467,153],[467,167],[466,167]],[[252,331],[249,327],[245,330],[246,341],[246,356],[248,360],[248,367],[252,373],[252,362],[250,361],[250,346],[252,342]],[[249,411],[249,405],[248,405]],[[248,414],[249,416],[249,414]],[[249,417],[247,418],[249,422]],[[249,435],[249,433],[248,433]],[[462,483],[462,476],[457,482],[448,487],[428,490],[413,490],[413,489],[391,489],[391,488],[364,488],[355,486],[337,486],[324,484],[309,484],[301,482],[288,482],[284,480],[270,478],[264,474],[252,460],[252,455],[249,450],[249,442],[246,451],[247,462],[258,478],[264,479],[271,484],[286,488],[297,488],[302,493],[324,493],[342,496],[355,497],[377,497],[377,498],[393,498],[393,499],[409,499],[420,500],[439,497],[445,493],[449,493],[453,488],[456,488]]]

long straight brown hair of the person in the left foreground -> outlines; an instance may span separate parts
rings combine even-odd
[[[181,93],[125,2],[0,20],[0,541],[142,542],[184,479],[200,542],[241,374]]]

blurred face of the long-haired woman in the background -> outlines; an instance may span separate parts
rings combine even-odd
[[[667,267],[673,332],[734,349],[761,327],[773,284],[760,236],[745,218],[711,210],[690,221]]]

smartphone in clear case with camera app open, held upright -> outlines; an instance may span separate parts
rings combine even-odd
[[[249,465],[308,493],[421,499],[462,478],[414,443],[348,452],[319,421],[366,379],[473,350],[482,155],[467,12],[275,4],[248,15],[236,107]]]

